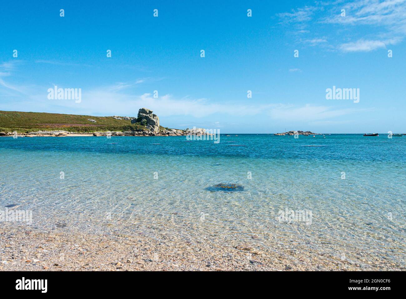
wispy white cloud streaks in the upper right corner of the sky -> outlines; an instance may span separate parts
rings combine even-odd
[[[341,16],[341,9],[346,12]],[[279,13],[280,24],[294,26],[296,32],[310,35],[309,26],[321,26],[329,32],[335,31],[335,38],[312,37],[299,39],[298,43],[310,46],[323,46],[342,52],[368,52],[394,45],[406,37],[406,0],[356,0],[315,2],[287,13]],[[339,25],[341,28],[337,28]],[[362,35],[360,26],[371,27],[367,35]],[[347,40],[343,43],[343,40]]]

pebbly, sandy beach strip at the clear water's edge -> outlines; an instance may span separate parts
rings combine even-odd
[[[136,235],[40,232],[1,228],[0,271],[386,271],[383,261],[360,267],[322,252],[218,246]],[[367,269],[365,269],[367,268]]]

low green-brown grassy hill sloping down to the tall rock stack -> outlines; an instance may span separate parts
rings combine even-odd
[[[88,119],[94,119],[96,123]],[[146,130],[146,127],[140,123],[131,124],[130,120],[114,119],[112,116],[0,111],[0,131],[32,132],[44,129],[60,129],[70,132],[102,132]]]

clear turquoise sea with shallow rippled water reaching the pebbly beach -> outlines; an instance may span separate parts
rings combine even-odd
[[[32,210],[44,231],[294,244],[405,265],[406,136],[230,135],[0,137],[0,208]],[[311,223],[281,221],[286,209],[311,211]]]

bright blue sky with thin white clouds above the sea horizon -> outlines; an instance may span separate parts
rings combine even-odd
[[[406,133],[404,0],[27,2],[0,10],[0,110],[147,107],[170,128]],[[54,85],[81,88],[82,102],[48,100]],[[359,103],[326,100],[333,86],[359,88]]]

